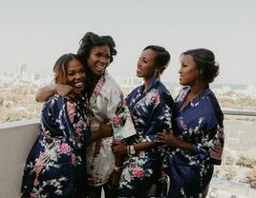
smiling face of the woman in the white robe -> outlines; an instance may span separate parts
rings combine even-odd
[[[110,64],[110,49],[108,46],[96,46],[91,49],[87,59],[87,66],[91,71],[100,76]]]

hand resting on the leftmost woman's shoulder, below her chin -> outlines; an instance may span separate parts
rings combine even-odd
[[[57,94],[69,101],[78,101],[82,98],[81,93],[70,85],[56,84],[54,89]]]

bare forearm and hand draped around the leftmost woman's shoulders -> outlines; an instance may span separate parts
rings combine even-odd
[[[55,84],[51,87],[45,87],[38,89],[35,95],[36,102],[45,102],[53,94],[58,93],[60,96],[66,98],[67,100],[74,100],[75,98],[80,98],[80,93],[73,89],[69,85]]]

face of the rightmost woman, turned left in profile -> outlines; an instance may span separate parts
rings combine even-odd
[[[199,69],[191,55],[182,57],[179,74],[181,86],[193,86],[199,82]]]

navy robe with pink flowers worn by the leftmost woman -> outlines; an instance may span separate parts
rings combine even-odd
[[[41,133],[32,146],[23,176],[25,197],[86,196],[84,141],[90,136],[84,101],[53,95],[42,108]]]

